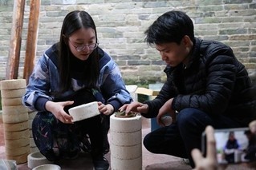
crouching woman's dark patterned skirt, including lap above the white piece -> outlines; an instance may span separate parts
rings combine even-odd
[[[64,108],[67,113],[68,109],[91,101],[104,103],[101,93],[93,89],[80,89],[70,96],[56,98],[55,101],[74,101],[73,105]],[[90,138],[92,158],[103,155],[108,149],[108,129],[108,119],[104,115],[69,125],[57,120],[52,113],[39,112],[32,124],[35,144],[48,160],[77,155],[87,135]]]

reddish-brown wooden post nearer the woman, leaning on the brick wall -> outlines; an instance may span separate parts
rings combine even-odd
[[[36,45],[38,37],[39,27],[39,11],[40,11],[40,0],[30,0],[30,19],[28,24],[28,33],[26,38],[26,55],[23,78],[28,79],[34,69],[34,61],[36,54]]]

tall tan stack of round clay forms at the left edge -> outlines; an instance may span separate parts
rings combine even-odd
[[[28,113],[22,105],[26,80],[1,81],[2,122],[4,128],[6,159],[26,163],[30,154]]]

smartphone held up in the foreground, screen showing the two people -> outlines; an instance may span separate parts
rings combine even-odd
[[[256,137],[249,128],[215,129],[218,164],[240,164],[255,161]],[[201,150],[206,155],[206,135],[201,136]]]

